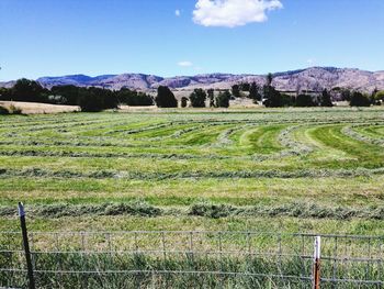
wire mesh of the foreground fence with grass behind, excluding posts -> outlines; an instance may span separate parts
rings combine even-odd
[[[384,236],[260,232],[30,232],[37,288],[384,288]],[[20,232],[0,232],[0,287],[27,287]]]

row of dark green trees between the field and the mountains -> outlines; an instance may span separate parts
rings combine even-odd
[[[273,75],[266,77],[263,86],[245,82],[231,86],[231,89],[194,89],[189,97],[182,97],[180,107],[187,108],[228,108],[229,100],[249,98],[253,103],[267,108],[281,107],[332,107],[334,101],[348,101],[351,107],[370,107],[384,101],[384,91],[374,90],[371,95],[347,88],[323,89],[320,91],[297,91],[294,96],[275,89]],[[53,104],[79,105],[81,111],[97,112],[126,105],[154,105],[177,108],[177,98],[169,87],[159,86],[156,97],[145,92],[122,88],[110,90],[98,87],[77,87],[72,85],[42,87],[37,81],[19,79],[12,88],[0,88],[0,100],[43,102]]]

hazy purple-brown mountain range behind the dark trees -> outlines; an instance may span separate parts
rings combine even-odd
[[[227,89],[235,84],[252,82],[263,85],[264,75],[233,75],[205,74],[195,76],[160,77],[145,74],[101,75],[90,77],[86,75],[69,75],[59,77],[41,77],[36,79],[42,86],[75,85],[80,87],[103,87],[121,89],[123,87],[150,91],[158,86],[168,86],[171,89],[189,90],[193,88]],[[0,82],[0,87],[12,87],[14,81]],[[273,74],[273,86],[283,91],[319,90],[323,88],[343,87],[362,91],[372,91],[377,88],[384,90],[384,70],[366,71],[357,68],[309,67]]]

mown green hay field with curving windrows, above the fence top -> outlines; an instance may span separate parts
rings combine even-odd
[[[384,110],[0,116],[0,229],[384,232]]]

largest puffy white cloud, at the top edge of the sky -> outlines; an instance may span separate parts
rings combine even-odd
[[[203,26],[235,27],[264,22],[267,11],[281,8],[280,0],[197,0],[193,21]]]

